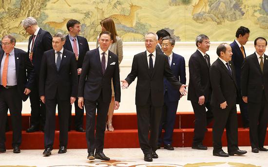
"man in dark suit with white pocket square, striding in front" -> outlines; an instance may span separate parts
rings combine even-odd
[[[115,110],[119,107],[121,96],[118,57],[109,51],[109,46],[113,42],[111,36],[108,31],[100,33],[98,39],[100,45],[98,48],[86,53],[79,80],[78,106],[82,109],[83,105],[85,105],[86,108],[87,158],[89,160],[94,160],[95,158],[104,161],[110,160],[104,155],[103,146],[105,122],[112,98],[112,79],[115,91]]]

